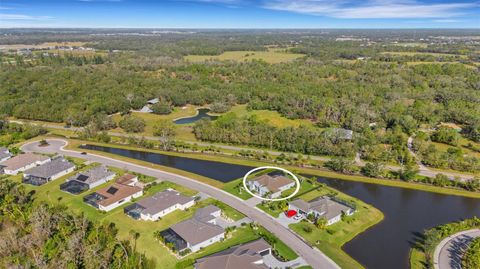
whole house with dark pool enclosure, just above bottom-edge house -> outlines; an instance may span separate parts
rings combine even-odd
[[[174,244],[179,252],[187,249],[196,252],[225,239],[225,230],[216,223],[220,214],[221,210],[216,206],[200,208],[192,218],[162,231],[161,235],[165,242]]]

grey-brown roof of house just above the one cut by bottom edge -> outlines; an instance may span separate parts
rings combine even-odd
[[[200,210],[199,209],[195,213],[194,217],[179,222],[170,227],[170,229],[183,238],[183,240],[190,243],[190,245],[196,245],[198,243],[205,242],[210,238],[223,234],[225,230],[222,227],[209,223],[206,220],[210,218],[209,216],[211,216],[207,216],[206,213],[215,212],[212,211],[214,208],[218,209],[216,206],[207,206],[205,210],[198,212]]]

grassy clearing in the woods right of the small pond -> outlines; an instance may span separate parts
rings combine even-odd
[[[236,105],[229,112],[234,112],[238,116],[255,115],[260,120],[267,121],[270,125],[276,127],[298,127],[300,125],[312,126],[313,122],[305,119],[291,120],[283,117],[277,111],[270,110],[247,110],[247,105]]]

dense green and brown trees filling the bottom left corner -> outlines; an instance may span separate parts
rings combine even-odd
[[[155,268],[113,224],[97,224],[62,206],[34,202],[34,192],[0,180],[0,267]]]

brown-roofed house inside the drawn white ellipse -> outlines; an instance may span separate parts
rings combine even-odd
[[[282,175],[261,175],[247,181],[248,188],[262,197],[277,198],[283,191],[293,188],[295,181]]]

